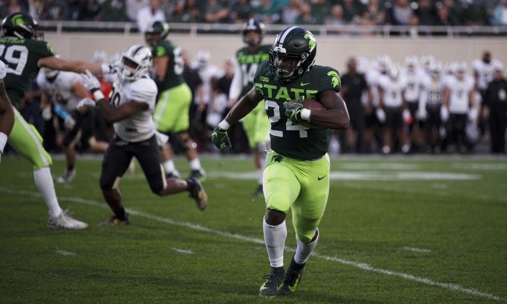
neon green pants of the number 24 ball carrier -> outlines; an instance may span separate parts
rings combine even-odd
[[[274,151],[266,157],[264,196],[266,208],[292,210],[296,236],[310,243],[324,214],[329,195],[330,162],[326,154],[315,161],[298,161]]]

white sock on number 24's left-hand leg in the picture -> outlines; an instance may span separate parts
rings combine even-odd
[[[272,267],[283,266],[283,248],[287,238],[287,226],[283,221],[278,226],[271,226],[263,218],[264,243],[268,250],[269,263]]]

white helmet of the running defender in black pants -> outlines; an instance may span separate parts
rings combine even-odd
[[[143,45],[133,45],[123,52],[118,75],[123,80],[134,81],[149,75],[152,67],[152,51]]]

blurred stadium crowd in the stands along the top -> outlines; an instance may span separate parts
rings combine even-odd
[[[3,0],[37,20],[342,25],[507,25],[505,0]]]

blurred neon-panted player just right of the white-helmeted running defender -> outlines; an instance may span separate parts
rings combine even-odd
[[[171,134],[183,148],[190,163],[190,176],[203,178],[206,173],[197,156],[197,144],[188,134],[192,92],[183,79],[181,49],[165,40],[168,33],[169,25],[162,21],[151,22],[144,32],[146,43],[152,47],[154,77],[159,92],[153,114],[155,128]],[[162,151],[166,174],[177,176],[171,156],[167,155],[168,150]]]

